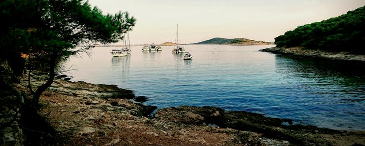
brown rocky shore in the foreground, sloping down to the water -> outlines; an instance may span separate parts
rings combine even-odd
[[[43,134],[56,139],[55,145],[83,146],[365,145],[362,131],[284,126],[291,120],[245,111],[181,106],[150,116],[155,107],[135,103],[132,96],[114,85],[56,79],[40,99],[40,113],[55,134]]]

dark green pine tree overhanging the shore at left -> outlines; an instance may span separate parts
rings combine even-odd
[[[38,87],[23,85],[32,94],[33,106],[62,72],[64,60],[88,53],[96,42],[124,39],[136,21],[128,12],[103,14],[86,0],[1,0],[0,10],[0,61],[28,80],[35,73],[48,76]]]

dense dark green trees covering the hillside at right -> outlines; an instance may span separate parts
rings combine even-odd
[[[365,7],[335,18],[299,26],[275,38],[277,47],[301,46],[306,49],[365,53]]]

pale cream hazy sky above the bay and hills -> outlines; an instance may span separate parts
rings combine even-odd
[[[131,44],[196,43],[214,37],[274,42],[289,30],[346,14],[365,0],[89,0],[137,19]]]

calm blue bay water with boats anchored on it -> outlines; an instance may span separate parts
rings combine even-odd
[[[365,74],[353,64],[260,52],[272,46],[185,45],[193,55],[142,52],[112,57],[96,47],[92,57],[71,58],[72,81],[114,84],[149,97],[159,108],[190,105],[245,110],[296,124],[365,130]]]

